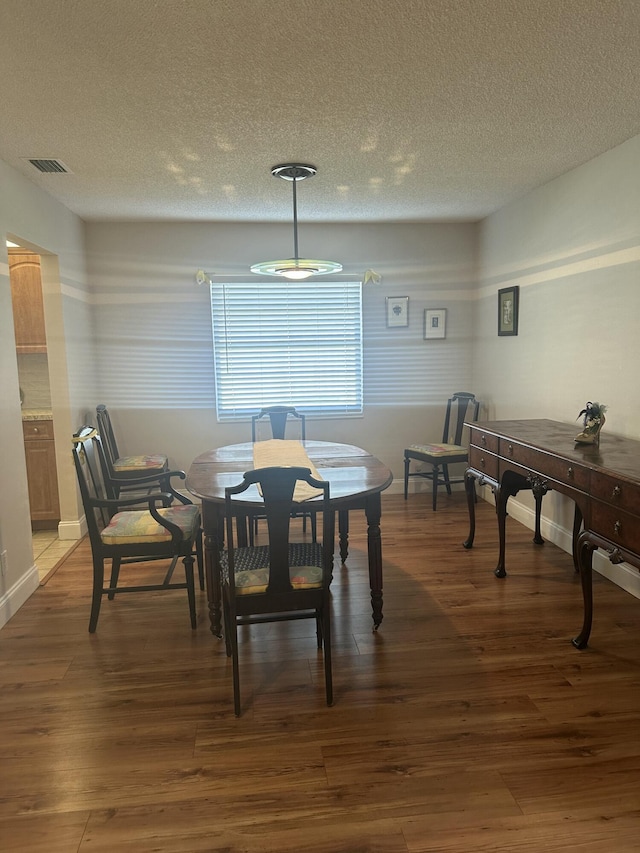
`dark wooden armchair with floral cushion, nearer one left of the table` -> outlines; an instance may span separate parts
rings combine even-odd
[[[97,456],[101,440],[93,427],[82,427],[73,436],[73,460],[91,542],[93,557],[93,593],[89,631],[98,624],[102,597],[113,599],[123,592],[186,589],[191,627],[196,627],[193,564],[202,565],[200,510],[170,485],[167,472],[162,487],[156,479],[155,491],[143,496],[109,498],[106,496]],[[182,558],[185,579],[173,581],[178,560]],[[111,561],[111,574],[105,585],[105,561]],[[118,586],[120,569],[129,564],[164,561],[162,579]],[[139,571],[141,569],[139,568]]]

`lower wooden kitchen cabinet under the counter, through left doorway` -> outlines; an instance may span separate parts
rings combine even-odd
[[[53,421],[23,421],[22,430],[27,460],[31,526],[34,530],[49,529],[60,521]]]

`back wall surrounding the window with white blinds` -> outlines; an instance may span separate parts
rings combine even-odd
[[[291,226],[92,222],[86,233],[101,402],[120,451],[166,452],[188,469],[210,447],[249,441],[248,422],[216,422],[209,288],[195,272],[251,278],[251,263],[290,248]],[[475,233],[470,224],[300,227],[314,257],[383,277],[364,291],[364,417],[308,421],[309,438],[366,447],[398,478],[407,444],[440,438],[443,400],[470,385]],[[386,327],[389,295],[409,296],[408,328]],[[423,339],[427,307],[447,309],[445,340]]]

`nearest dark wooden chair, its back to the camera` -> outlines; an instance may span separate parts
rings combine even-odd
[[[256,488],[264,501],[268,545],[236,547],[233,518],[246,510],[243,493]],[[314,497],[315,496],[315,497]],[[293,542],[291,514],[313,499],[321,519],[321,542]],[[233,696],[240,716],[238,625],[314,619],[318,649],[324,650],[327,705],[333,703],[331,608],[335,513],[329,508],[329,483],[309,468],[257,468],[237,486],[225,489],[226,543],[221,555],[222,605],[227,655],[233,662]],[[267,638],[268,639],[268,636]]]

